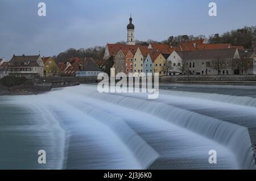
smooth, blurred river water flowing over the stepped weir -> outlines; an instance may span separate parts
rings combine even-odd
[[[0,169],[255,169],[255,86],[160,88],[151,100],[96,85],[0,96]]]

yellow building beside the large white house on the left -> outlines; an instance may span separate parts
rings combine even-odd
[[[52,57],[43,57],[42,60],[44,62],[44,75],[46,77],[59,75],[60,68],[57,66]]]

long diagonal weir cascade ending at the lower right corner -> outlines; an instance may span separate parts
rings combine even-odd
[[[139,94],[137,94],[137,98],[131,98],[119,94],[98,95],[95,89],[93,90],[93,87],[89,87],[86,90],[80,90],[80,94],[87,94],[90,97],[101,99],[105,102],[151,113],[156,117],[171,121],[171,123],[180,127],[187,128],[222,145],[226,145],[237,155],[241,169],[255,169],[254,152],[248,130],[245,127],[213,119],[212,117],[195,112],[185,111],[161,102],[148,101],[144,99],[144,96],[142,96],[142,99],[138,99]],[[234,101],[234,96],[232,100]]]

